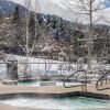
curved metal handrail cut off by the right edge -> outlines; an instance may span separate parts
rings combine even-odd
[[[97,82],[96,82],[96,89],[97,90],[106,90],[106,89],[110,89],[110,87],[107,87],[107,88],[99,88],[99,82],[101,82],[102,80],[103,80],[103,78],[105,78],[105,80],[106,80],[106,84],[107,84],[107,75],[108,74],[110,74],[110,70],[109,72],[107,72],[107,73],[105,73],[98,80],[97,80]]]

